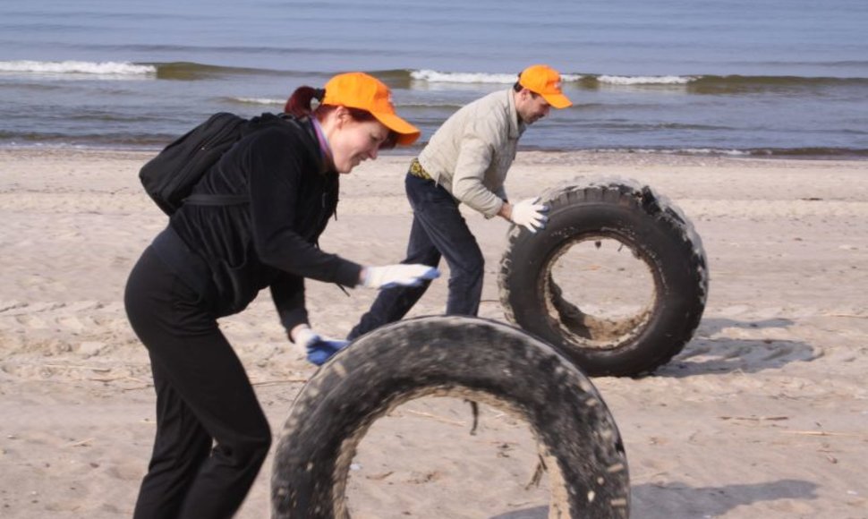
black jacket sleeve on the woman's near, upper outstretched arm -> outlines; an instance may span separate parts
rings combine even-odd
[[[360,265],[320,251],[293,228],[302,206],[305,144],[289,132],[266,130],[257,137],[244,161],[250,168],[253,245],[261,261],[298,277],[358,285]]]

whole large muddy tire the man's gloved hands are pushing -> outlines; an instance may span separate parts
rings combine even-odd
[[[708,293],[702,241],[684,213],[647,185],[575,180],[549,191],[549,224],[513,226],[498,285],[506,319],[555,345],[591,376],[637,376],[665,364],[694,335]],[[551,272],[574,244],[621,242],[653,278],[651,302],[633,319],[595,319],[566,301]]]

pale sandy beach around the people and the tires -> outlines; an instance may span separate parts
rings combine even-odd
[[[150,154],[0,150],[0,516],[128,517],[154,434],[148,355],[123,286],[166,217],[142,191]],[[403,259],[408,157],[343,177],[320,242]],[[632,517],[868,517],[868,161],[524,152],[518,200],[579,175],[649,183],[694,222],[711,284],[694,340],[650,377],[593,379],[625,441]],[[468,212],[486,255],[481,317],[504,320],[507,225]],[[314,328],[344,336],[375,293],[309,282]],[[412,315],[438,314],[446,279]],[[221,321],[272,428],[316,368],[264,291]],[[547,516],[521,422],[422,399],[377,422],[353,465],[354,517]],[[268,517],[271,457],[239,512]]]

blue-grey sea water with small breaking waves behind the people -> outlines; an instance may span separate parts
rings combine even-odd
[[[868,157],[866,33],[864,0],[4,1],[0,146],[158,149],[364,71],[418,148],[545,63],[574,106],[523,149]]]

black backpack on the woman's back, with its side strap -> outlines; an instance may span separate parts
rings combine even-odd
[[[230,205],[248,201],[244,195],[193,195],[193,186],[226,151],[254,129],[251,121],[220,112],[183,134],[141,167],[139,179],[166,215],[185,201],[200,205]]]

